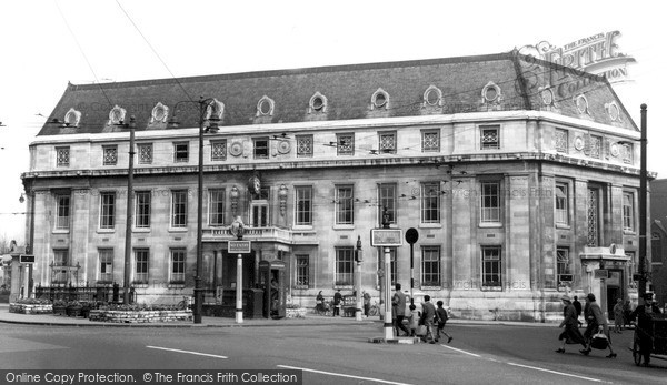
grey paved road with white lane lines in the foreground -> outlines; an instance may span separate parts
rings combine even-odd
[[[618,358],[575,346],[554,327],[451,325],[451,344],[370,344],[366,325],[220,328],[49,327],[4,324],[0,369],[302,369],[305,384],[659,384],[667,365],[636,367],[630,333]]]

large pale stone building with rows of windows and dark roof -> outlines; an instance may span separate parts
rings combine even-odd
[[[239,216],[243,287],[280,261],[293,302],[351,294],[356,275],[377,300],[385,209],[419,232],[414,270],[409,244],[391,249],[391,281],[414,274],[457,317],[555,320],[566,291],[636,300],[639,130],[605,79],[515,51],[68,84],[22,175],[36,286],[122,286],[131,217],[137,301],[192,294],[200,97],[220,128],[203,134],[207,301],[236,287]]]

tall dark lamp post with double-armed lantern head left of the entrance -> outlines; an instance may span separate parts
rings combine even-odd
[[[195,275],[195,308],[192,311],[192,321],[196,324],[201,323],[201,305],[203,302],[203,287],[201,286],[201,275],[203,270],[203,250],[202,250],[202,219],[203,219],[203,132],[207,109],[213,103],[215,99],[199,98],[198,101],[185,100],[176,103],[173,107],[175,115],[170,120],[170,125],[178,125],[176,111],[181,103],[198,103],[199,104],[199,161],[197,169],[197,262]],[[215,133],[218,131],[218,118],[211,113],[209,116],[209,126],[207,132]]]

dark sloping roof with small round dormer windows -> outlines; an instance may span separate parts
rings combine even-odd
[[[427,92],[429,89],[434,91]],[[374,105],[372,98],[378,92],[385,93],[386,104]],[[311,108],[318,93],[326,104],[319,111]],[[155,107],[162,103],[170,109],[167,115],[171,118],[177,103],[188,100],[193,102],[178,104],[178,121],[183,128],[197,126],[199,112],[195,101],[200,97],[223,103],[220,125],[548,110],[638,131],[604,78],[512,51],[178,79],[70,83],[39,135],[117,131],[117,124],[110,121],[116,105],[127,111],[126,123],[130,115],[136,116],[137,130],[165,130],[168,121],[155,120]],[[272,108],[260,105],[265,97],[272,100]],[[260,107],[268,113],[260,113]],[[80,113],[78,119],[74,115],[66,119],[70,111]],[[64,121],[69,124],[62,124]]]

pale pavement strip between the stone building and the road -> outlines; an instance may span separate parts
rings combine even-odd
[[[153,322],[153,323],[110,323],[89,321],[83,317],[70,317],[66,315],[54,314],[19,314],[10,313],[9,304],[0,303],[0,323],[8,324],[24,324],[24,325],[47,325],[47,326],[96,326],[96,327],[257,327],[257,326],[335,326],[335,325],[368,325],[376,324],[379,328],[384,322],[379,316],[364,317],[361,321],[356,321],[355,317],[332,317],[317,315],[312,313],[306,314],[302,318],[243,318],[242,323],[237,323],[236,318],[231,317],[213,317],[202,316],[200,324],[195,324],[192,321],[173,321],[173,322]],[[460,325],[504,325],[504,326],[520,326],[520,327],[558,327],[555,323],[532,323],[532,322],[514,322],[514,321],[475,321],[475,320],[457,320],[449,318],[448,324]]]

